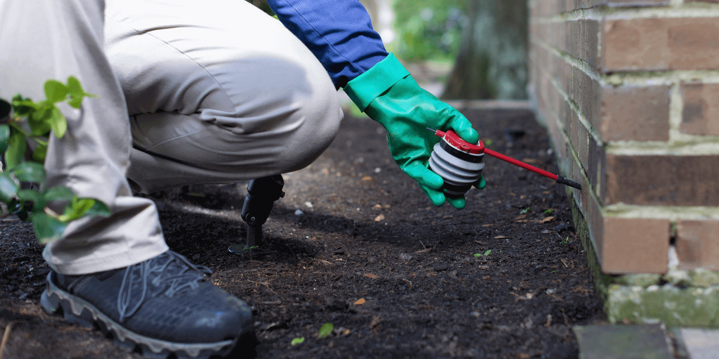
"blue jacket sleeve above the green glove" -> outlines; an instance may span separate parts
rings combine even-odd
[[[267,4],[324,65],[336,88],[388,55],[358,0],[267,0]]]

